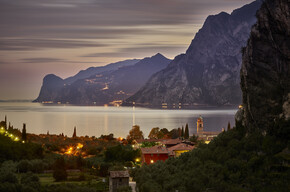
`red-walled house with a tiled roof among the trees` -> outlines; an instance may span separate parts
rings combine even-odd
[[[153,147],[141,148],[142,164],[152,164],[156,161],[165,161],[169,158],[169,151],[166,147],[155,145]]]

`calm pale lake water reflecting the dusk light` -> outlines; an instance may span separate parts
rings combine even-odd
[[[237,109],[166,110],[138,107],[63,106],[39,103],[0,103],[0,121],[7,115],[8,122],[28,133],[60,134],[71,137],[74,126],[78,136],[113,133],[115,137],[128,135],[132,125],[139,125],[147,137],[153,127],[173,128],[188,123],[189,132],[196,132],[196,120],[204,118],[205,131],[221,131],[228,122],[234,125]]]

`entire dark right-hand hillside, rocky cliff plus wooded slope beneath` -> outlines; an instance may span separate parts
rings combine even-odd
[[[236,126],[179,158],[136,170],[140,192],[289,191],[289,16],[288,0],[266,0],[257,14],[243,51]]]

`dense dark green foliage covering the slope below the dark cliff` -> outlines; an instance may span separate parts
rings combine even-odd
[[[271,134],[237,125],[210,144],[134,173],[140,192],[289,191],[289,122]],[[283,133],[283,135],[281,134]]]

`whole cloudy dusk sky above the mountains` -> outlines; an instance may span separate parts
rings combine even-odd
[[[35,99],[46,74],[184,53],[208,15],[253,0],[0,0],[0,100]]]

